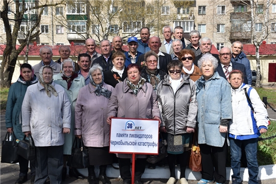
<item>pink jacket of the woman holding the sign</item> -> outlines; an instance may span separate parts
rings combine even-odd
[[[160,117],[156,93],[152,85],[146,82],[135,96],[128,87],[126,80],[118,83],[112,91],[107,116],[141,119]],[[131,154],[119,154],[118,157],[130,158]],[[146,155],[137,155],[137,157],[145,158]]]

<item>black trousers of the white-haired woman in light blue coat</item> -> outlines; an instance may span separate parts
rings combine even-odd
[[[209,146],[206,144],[199,144],[199,147],[201,152],[202,178],[213,180],[215,177],[216,182],[224,183],[226,181],[226,139],[222,147]]]

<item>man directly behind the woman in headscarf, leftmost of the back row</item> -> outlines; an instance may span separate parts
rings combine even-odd
[[[39,50],[39,56],[41,57],[42,60],[38,64],[33,66],[34,73],[36,76],[38,76],[40,68],[44,65],[50,65],[53,68],[54,75],[60,73],[61,71],[60,64],[52,60],[53,51],[50,47],[48,46],[42,47]]]

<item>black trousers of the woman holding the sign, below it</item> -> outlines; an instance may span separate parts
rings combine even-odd
[[[136,158],[134,180],[141,180],[141,176],[145,172],[147,158]],[[131,179],[130,158],[118,158],[120,175],[123,180]],[[134,162],[134,160],[132,161]]]

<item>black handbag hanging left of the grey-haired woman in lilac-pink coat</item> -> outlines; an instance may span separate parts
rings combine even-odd
[[[74,167],[78,169],[88,168],[89,167],[89,155],[88,149],[85,148],[82,142],[82,137],[79,139],[75,137],[72,153],[68,158],[67,162],[68,167]]]

